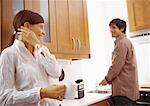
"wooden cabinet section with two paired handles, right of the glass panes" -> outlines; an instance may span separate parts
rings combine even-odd
[[[56,0],[58,56],[89,58],[85,0]],[[62,55],[59,55],[62,54]]]

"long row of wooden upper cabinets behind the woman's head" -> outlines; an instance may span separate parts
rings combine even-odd
[[[43,44],[57,58],[90,58],[85,0],[2,0],[2,49],[11,44],[12,21],[21,9],[41,14],[46,35]],[[9,8],[8,8],[9,7]],[[7,18],[6,18],[7,17]],[[11,24],[10,24],[11,23]]]

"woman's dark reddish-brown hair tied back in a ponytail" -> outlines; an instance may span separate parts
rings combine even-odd
[[[36,12],[30,10],[21,10],[16,14],[13,20],[13,27],[15,32],[17,32],[17,29],[23,26],[25,22],[29,22],[30,24],[34,25],[38,23],[44,23],[44,19],[40,14]],[[15,38],[16,33],[13,35],[13,42]]]

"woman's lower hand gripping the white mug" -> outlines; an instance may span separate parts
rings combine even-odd
[[[64,98],[65,85],[50,85],[47,88],[41,88],[41,98],[52,98],[62,100]]]

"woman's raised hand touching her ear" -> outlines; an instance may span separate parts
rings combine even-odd
[[[40,44],[40,41],[38,40],[38,38],[36,37],[36,34],[32,30],[21,26],[21,28],[18,28],[18,31],[20,31],[20,32],[17,32],[17,34],[19,35],[18,36],[19,40],[27,42],[33,47],[36,44]]]

